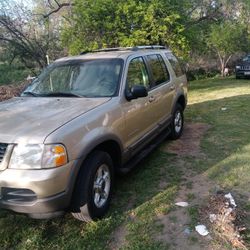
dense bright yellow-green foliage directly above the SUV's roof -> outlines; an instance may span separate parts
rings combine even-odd
[[[177,54],[188,51],[181,15],[166,1],[75,0],[73,13],[73,26],[62,34],[71,54],[149,44],[167,45]]]

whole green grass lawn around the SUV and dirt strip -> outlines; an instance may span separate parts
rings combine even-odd
[[[159,147],[129,175],[117,179],[111,209],[98,222],[85,224],[69,214],[38,221],[0,211],[0,249],[109,249],[121,227],[125,239],[120,249],[167,249],[171,242],[164,245],[157,240],[162,230],[158,218],[173,209],[186,168],[205,173],[250,212],[249,100],[249,80],[191,82],[186,120],[210,125],[201,144],[205,159],[183,157],[180,161],[163,152],[165,146]],[[187,188],[192,188],[191,182]],[[194,226],[198,209],[190,207],[187,212]]]

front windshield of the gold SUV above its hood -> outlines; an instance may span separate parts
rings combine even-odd
[[[23,91],[22,96],[115,96],[122,65],[122,59],[54,63]]]

